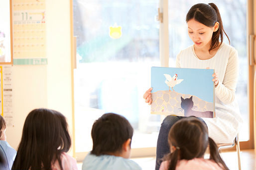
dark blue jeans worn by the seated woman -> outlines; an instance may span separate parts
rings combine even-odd
[[[159,135],[157,139],[155,170],[159,170],[160,164],[162,162],[161,159],[163,158],[163,156],[170,153],[170,147],[168,144],[168,133],[170,131],[171,126],[182,118],[186,118],[186,117],[168,115],[164,118],[159,130]],[[197,118],[200,119],[203,123],[205,123],[202,118],[200,117],[197,117]]]

